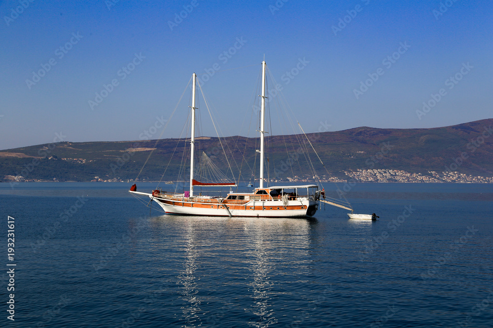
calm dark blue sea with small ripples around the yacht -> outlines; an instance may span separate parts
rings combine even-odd
[[[129,187],[0,183],[1,327],[493,327],[491,184],[346,186],[376,222],[149,215]]]

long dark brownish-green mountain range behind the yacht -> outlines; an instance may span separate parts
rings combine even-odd
[[[269,136],[266,166],[269,178],[280,181],[313,178],[315,173],[305,170],[311,165],[322,179],[348,179],[347,172],[358,169],[402,170],[423,175],[430,171],[457,171],[492,177],[492,134],[493,119],[482,119],[436,128],[362,126],[308,133],[306,137],[313,148],[303,135]],[[197,154],[207,154],[229,177],[234,175],[238,179],[242,172],[242,181],[258,177],[255,149],[259,149],[258,138],[200,137],[196,141]],[[140,180],[186,180],[188,150],[189,142],[184,139],[59,142],[5,149],[0,150],[0,180],[132,180],[137,176]]]

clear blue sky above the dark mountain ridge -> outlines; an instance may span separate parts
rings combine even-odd
[[[489,1],[110,1],[0,1],[0,149],[138,140],[213,67],[203,89],[237,135],[264,54],[306,132],[493,117]]]

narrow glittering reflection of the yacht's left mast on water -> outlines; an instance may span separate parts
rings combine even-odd
[[[181,310],[183,312],[182,320],[185,320],[185,324],[181,327],[183,328],[194,328],[200,327],[202,325],[199,313],[201,312],[200,303],[201,300],[197,293],[197,278],[194,275],[197,269],[197,242],[195,237],[195,228],[193,226],[193,221],[183,220],[185,231],[185,259],[183,263],[183,269],[178,275],[178,281],[176,282],[180,286],[178,287],[180,298],[183,300],[183,305]]]

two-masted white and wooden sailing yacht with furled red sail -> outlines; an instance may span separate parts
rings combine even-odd
[[[265,131],[265,81],[266,63],[262,61],[262,94],[260,108],[260,177],[259,187],[252,192],[230,192],[226,197],[194,194],[195,186],[236,186],[236,183],[209,183],[194,179],[195,150],[195,84],[197,76],[192,75],[192,106],[190,136],[190,189],[183,193],[154,190],[152,193],[137,191],[134,184],[129,190],[135,195],[149,197],[167,214],[200,216],[246,216],[246,217],[304,217],[313,216],[318,209],[320,194],[316,184],[290,186],[264,186],[264,135]]]

